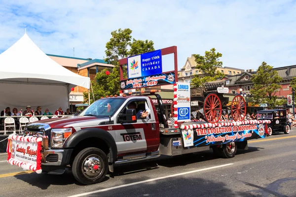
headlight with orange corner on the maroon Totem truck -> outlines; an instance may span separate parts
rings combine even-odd
[[[72,134],[72,129],[52,129],[51,148],[62,148],[66,139]]]

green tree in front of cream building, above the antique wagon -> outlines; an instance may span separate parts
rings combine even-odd
[[[201,87],[208,81],[215,81],[223,78],[225,75],[217,70],[218,67],[222,67],[222,61],[219,58],[222,54],[212,48],[210,51],[206,51],[204,56],[199,54],[193,54],[195,62],[197,63],[196,69],[204,73],[203,75],[195,75],[191,81],[193,87]]]

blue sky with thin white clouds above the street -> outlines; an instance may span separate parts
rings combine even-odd
[[[176,45],[179,69],[213,47],[223,66],[296,65],[295,10],[295,0],[0,0],[0,53],[27,28],[45,53],[102,59],[111,31],[130,28],[155,49]]]

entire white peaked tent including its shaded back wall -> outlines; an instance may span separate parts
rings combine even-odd
[[[31,105],[42,112],[54,113],[60,106],[69,107],[71,88],[89,89],[90,78],[83,77],[59,65],[25,33],[9,49],[0,54],[0,111],[5,107],[25,110]]]

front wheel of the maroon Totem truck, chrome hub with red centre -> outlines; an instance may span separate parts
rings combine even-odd
[[[85,148],[74,158],[72,173],[84,185],[101,182],[108,172],[108,158],[98,148]]]

